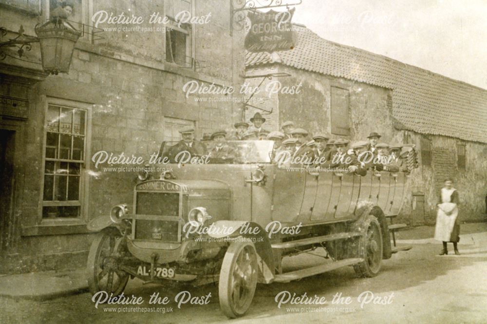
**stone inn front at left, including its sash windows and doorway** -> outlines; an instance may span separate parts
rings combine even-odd
[[[15,36],[20,25],[25,35],[35,36],[34,26],[49,17],[53,3],[0,1],[7,36]],[[228,1],[74,4],[70,19],[83,35],[69,74],[45,74],[38,43],[21,60],[7,49],[0,61],[1,271],[85,265],[92,240],[87,222],[131,201],[136,177],[104,169],[107,163],[95,166],[91,157],[97,152],[147,161],[163,140],[179,140],[183,127],[194,127],[199,138],[231,127],[241,116],[231,95],[183,92],[190,81],[217,88],[243,82],[243,35],[230,32]],[[92,17],[100,11],[133,14],[144,22],[95,25]],[[210,16],[204,24],[178,25],[173,18],[181,11]],[[169,23],[150,24],[155,12],[171,18]],[[169,26],[174,28],[162,29]]]

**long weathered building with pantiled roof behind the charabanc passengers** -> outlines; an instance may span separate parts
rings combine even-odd
[[[287,120],[311,134],[364,140],[371,132],[387,143],[415,144],[420,167],[410,174],[399,218],[410,225],[434,224],[438,192],[453,178],[460,193],[461,222],[487,214],[487,91],[353,47],[333,43],[295,25],[293,50],[247,53],[246,76],[265,76],[257,104],[267,111],[270,131]],[[249,78],[258,85],[262,78]],[[300,93],[270,95],[282,89]]]

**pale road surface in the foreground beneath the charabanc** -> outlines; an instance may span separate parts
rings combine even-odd
[[[487,233],[478,233],[480,237]],[[352,268],[342,268],[298,282],[259,285],[249,312],[233,323],[487,323],[487,252],[472,245],[460,246],[462,256],[437,256],[440,246],[424,240],[409,240],[410,251],[393,255],[383,262],[375,278],[356,278]],[[468,242],[467,242],[468,243]],[[468,251],[468,249],[471,249]],[[484,252],[482,252],[482,250]],[[300,255],[291,258],[290,266],[314,263],[321,258]],[[182,305],[177,308],[175,296],[187,290],[192,297],[211,294],[207,305]],[[282,291],[308,297],[324,297],[325,305],[281,305],[275,296]],[[377,302],[387,305],[365,304],[357,301],[361,293],[371,291]],[[141,285],[132,281],[125,291],[142,297],[148,305],[150,295],[168,296],[171,300],[162,312],[118,312],[119,305],[94,307],[91,296],[83,293],[51,301],[14,301],[0,299],[0,323],[226,323],[220,311],[218,289],[204,287],[164,287]],[[350,297],[351,304],[334,305],[335,294]],[[200,300],[202,300],[200,298]],[[134,307],[134,306],[123,306]],[[306,307],[297,312],[295,307]],[[108,311],[114,309],[116,312]],[[133,308],[131,308],[133,309]]]

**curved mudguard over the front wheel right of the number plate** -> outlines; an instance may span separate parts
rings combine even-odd
[[[217,234],[208,233],[210,237],[250,239],[258,254],[259,282],[268,284],[274,279],[274,255],[265,229],[257,223],[245,221],[216,221],[212,226],[217,229],[215,231]],[[231,240],[229,241],[231,242]]]

